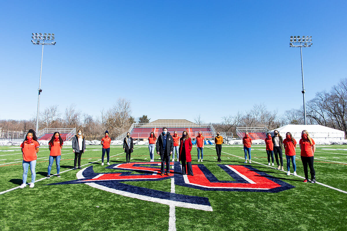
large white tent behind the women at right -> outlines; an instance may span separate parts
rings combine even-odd
[[[322,125],[294,125],[294,124],[288,124],[283,127],[279,127],[277,130],[280,135],[283,137],[283,139],[286,137],[286,133],[290,132],[291,135],[294,137],[295,140],[301,139],[301,132],[303,130],[307,130],[308,134],[313,139],[331,139],[331,140],[344,140],[345,139],[345,132],[325,127]],[[274,131],[272,130],[272,132]]]

